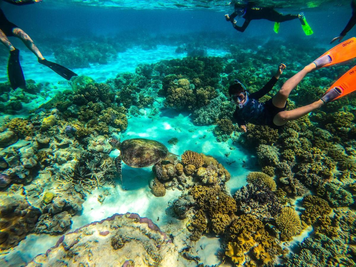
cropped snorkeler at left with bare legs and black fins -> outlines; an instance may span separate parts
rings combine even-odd
[[[1,0],[0,0],[1,1]],[[26,5],[33,4],[35,2],[41,2],[42,0],[4,0],[14,5]],[[18,87],[25,87],[25,77],[23,76],[22,68],[19,60],[19,49],[16,49],[10,42],[8,37],[19,38],[30,51],[36,55],[38,62],[49,67],[58,75],[69,80],[73,76],[77,76],[71,70],[51,61],[45,59],[40,50],[37,48],[35,43],[32,41],[31,37],[27,35],[26,32],[17,27],[14,23],[7,20],[4,12],[0,9],[0,42],[6,46],[10,51],[9,63],[7,66],[7,73],[9,75],[9,80],[11,87],[16,89]]]

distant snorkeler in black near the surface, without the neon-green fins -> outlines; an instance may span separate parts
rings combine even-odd
[[[245,22],[242,26],[236,25],[235,17],[237,16],[245,19]],[[227,21],[231,21],[232,26],[240,32],[244,32],[246,30],[251,20],[264,19],[264,20],[269,20],[274,22],[284,22],[288,20],[300,19],[301,23],[304,23],[303,13],[296,14],[296,15],[292,15],[292,14],[283,15],[277,12],[276,10],[274,10],[272,7],[256,7],[253,6],[252,4],[247,4],[244,8],[241,8],[239,5],[235,5],[235,12],[232,13],[231,15],[226,14],[225,18]]]

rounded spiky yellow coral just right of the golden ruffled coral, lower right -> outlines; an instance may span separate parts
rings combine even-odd
[[[302,230],[300,218],[292,207],[284,207],[281,210],[281,213],[276,216],[276,224],[281,230],[281,238],[283,240],[288,240],[298,235]]]

